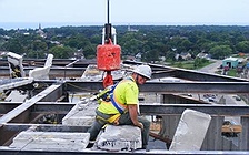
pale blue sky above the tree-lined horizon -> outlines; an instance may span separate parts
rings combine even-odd
[[[249,0],[109,0],[110,23],[249,25]],[[0,28],[103,25],[107,0],[0,0]],[[23,25],[22,25],[23,24]],[[31,27],[31,25],[30,25]],[[14,28],[13,28],[14,29]]]

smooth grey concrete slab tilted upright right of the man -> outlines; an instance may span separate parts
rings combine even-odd
[[[211,116],[185,110],[169,151],[199,151],[208,131]]]

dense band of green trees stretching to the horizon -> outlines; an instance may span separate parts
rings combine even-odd
[[[48,53],[51,49],[58,49],[54,46],[60,44],[72,51],[81,49],[86,58],[94,58],[96,48],[102,42],[102,28],[101,25],[46,28],[43,29],[47,33],[46,39],[38,35],[32,29],[9,31],[0,29],[0,50],[18,54],[27,53],[27,56],[37,58],[43,56],[43,53]],[[190,52],[195,55],[199,52],[211,52],[216,58],[229,56],[229,53],[237,51],[249,53],[249,27],[132,25],[132,28],[139,31],[127,31],[127,25],[116,27],[117,43],[122,49],[122,56],[137,53],[150,55],[153,50],[157,52],[152,56],[166,56],[167,60],[173,60],[175,54],[181,52]],[[57,43],[52,43],[52,41]],[[227,48],[223,46],[225,51],[219,53],[221,45],[227,45]],[[172,49],[177,50],[172,53]],[[73,55],[63,53],[60,56]]]

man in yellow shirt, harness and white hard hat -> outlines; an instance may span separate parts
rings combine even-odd
[[[132,74],[120,81],[113,89],[109,101],[101,101],[96,110],[97,116],[89,128],[90,141],[94,141],[100,130],[106,124],[135,125],[141,128],[142,148],[146,149],[149,140],[150,122],[139,116],[139,89],[138,85],[151,79],[151,68],[139,65]]]

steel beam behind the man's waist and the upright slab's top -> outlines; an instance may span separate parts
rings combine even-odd
[[[8,105],[6,105],[8,106]],[[11,105],[10,105],[11,106]],[[46,103],[38,102],[33,105],[32,113],[57,113],[64,114],[69,112],[74,104],[72,103]],[[218,105],[218,104],[160,104],[147,103],[140,104],[140,111],[146,115],[172,115],[182,114],[186,108],[191,108],[208,113],[213,116],[249,116],[248,105]]]

